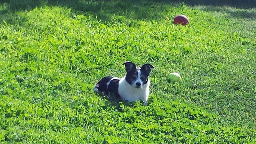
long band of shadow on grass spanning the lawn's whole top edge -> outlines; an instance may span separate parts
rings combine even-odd
[[[256,7],[255,0],[3,0],[0,1],[0,20],[10,13],[23,10],[32,10],[43,6],[60,6],[71,8],[80,14],[97,15],[102,21],[108,22],[112,16],[124,16],[134,20],[153,20],[163,17],[163,10],[172,5],[182,6],[202,5],[202,10],[220,11],[238,18],[255,18],[255,12],[246,9]],[[234,10],[223,7],[231,6],[242,8]]]

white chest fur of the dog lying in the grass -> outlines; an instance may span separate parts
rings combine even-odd
[[[149,96],[149,86],[150,82],[148,80],[142,88],[134,88],[126,82],[125,78],[121,78],[118,86],[118,93],[123,100],[128,100],[128,102],[136,100],[146,102]]]

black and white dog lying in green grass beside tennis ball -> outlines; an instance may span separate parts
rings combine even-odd
[[[116,98],[128,102],[140,100],[147,105],[150,86],[148,75],[154,66],[144,64],[140,68],[136,68],[132,62],[124,62],[123,65],[126,70],[126,75],[123,78],[106,76],[95,84],[94,92],[108,96],[114,95]]]

